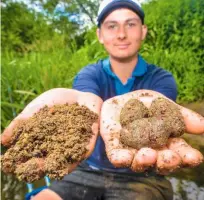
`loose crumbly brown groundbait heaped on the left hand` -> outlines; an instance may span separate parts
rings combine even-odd
[[[45,174],[61,179],[68,165],[82,161],[98,115],[78,104],[45,106],[13,131],[10,148],[1,157],[2,170],[33,182]]]

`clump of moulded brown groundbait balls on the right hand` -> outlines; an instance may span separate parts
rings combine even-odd
[[[179,108],[162,97],[155,99],[149,109],[139,100],[130,99],[121,111],[120,123],[121,143],[136,149],[161,148],[169,137],[179,137],[185,132]]]

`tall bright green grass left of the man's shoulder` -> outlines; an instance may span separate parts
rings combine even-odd
[[[2,127],[40,93],[55,87],[70,88],[79,68],[69,64],[66,50],[30,53],[22,57],[14,53],[2,56]]]

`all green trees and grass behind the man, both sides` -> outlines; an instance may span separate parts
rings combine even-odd
[[[37,2],[40,12],[29,6]],[[97,8],[96,0],[2,1],[2,130],[37,95],[71,88],[82,67],[107,56],[95,34]],[[179,103],[204,100],[204,1],[152,0],[143,9],[149,33],[141,55],[173,73]]]

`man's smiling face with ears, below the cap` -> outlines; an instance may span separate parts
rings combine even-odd
[[[110,13],[97,30],[100,43],[112,58],[119,60],[135,57],[146,33],[139,16],[126,8]]]

